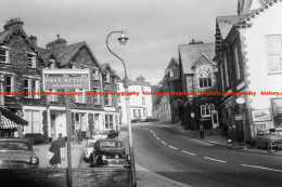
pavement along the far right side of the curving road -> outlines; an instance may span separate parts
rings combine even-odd
[[[171,123],[171,122],[163,122],[163,124],[168,124],[171,128],[174,128],[176,131],[180,132],[182,135],[195,138],[197,141],[200,139],[200,132],[198,131],[191,131],[191,130],[184,130],[183,125],[181,125],[179,122],[178,123]],[[261,153],[272,153],[272,155],[280,155],[282,156],[282,150],[273,150],[271,152],[265,150],[265,149],[257,149],[254,146],[251,145],[242,145],[241,143],[233,142],[232,147],[228,143],[228,139],[225,136],[221,136],[221,130],[216,129],[216,130],[206,130],[205,132],[205,143],[209,143],[216,146],[229,148],[229,149],[244,149],[246,151],[253,151],[253,152],[261,152]]]

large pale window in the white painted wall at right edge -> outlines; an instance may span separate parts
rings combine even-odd
[[[268,71],[282,72],[281,36],[267,36]]]

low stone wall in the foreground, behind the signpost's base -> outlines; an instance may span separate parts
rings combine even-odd
[[[1,186],[66,187],[66,169],[0,170]],[[128,169],[73,169],[73,187],[129,187]]]

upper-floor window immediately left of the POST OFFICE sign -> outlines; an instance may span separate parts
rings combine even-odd
[[[30,94],[33,92],[33,94]],[[24,95],[27,98],[40,98],[40,80],[38,79],[24,79]],[[37,94],[38,93],[38,94]]]

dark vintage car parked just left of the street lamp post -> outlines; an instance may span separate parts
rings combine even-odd
[[[126,155],[123,142],[112,138],[97,141],[89,160],[90,166],[130,166],[130,158]]]

